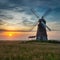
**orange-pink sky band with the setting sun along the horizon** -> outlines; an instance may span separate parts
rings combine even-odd
[[[48,39],[60,40],[60,31],[48,32]],[[0,40],[30,40],[28,36],[34,36],[36,32],[1,32]]]

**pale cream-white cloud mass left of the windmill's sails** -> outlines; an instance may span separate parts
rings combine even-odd
[[[21,8],[13,10],[2,10],[0,17],[0,19],[16,25],[29,26],[33,25],[34,23],[34,20],[32,20],[32,15],[29,15],[28,12],[26,13],[25,10]]]

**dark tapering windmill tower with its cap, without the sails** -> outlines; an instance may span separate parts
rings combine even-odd
[[[43,18],[39,19],[36,40],[48,40],[45,25],[46,25],[45,19],[43,19]]]

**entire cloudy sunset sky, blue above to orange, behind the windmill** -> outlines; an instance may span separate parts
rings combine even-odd
[[[38,21],[31,9],[41,18],[47,10],[49,13],[45,15],[47,25],[51,28],[48,31],[49,39],[60,39],[60,0],[0,0],[0,30],[20,30],[16,34],[16,39],[27,37],[28,35],[36,35],[37,28],[30,31],[34,24]],[[54,30],[54,31],[53,31]],[[23,32],[26,31],[26,32]],[[35,32],[35,33],[34,33]],[[24,35],[25,33],[25,35]],[[7,35],[10,33],[0,32],[0,40],[10,39]],[[10,35],[11,35],[10,34]],[[14,37],[13,37],[14,38]]]

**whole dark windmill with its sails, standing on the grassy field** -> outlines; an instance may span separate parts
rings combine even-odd
[[[36,36],[29,36],[29,38],[35,38],[36,37],[36,40],[48,40],[46,28],[49,31],[51,31],[51,29],[46,25],[46,21],[45,21],[44,17],[47,16],[50,11],[51,10],[48,9],[45,12],[45,14],[41,18],[39,18],[39,16],[35,13],[34,9],[31,9],[31,12],[36,16],[36,18],[38,18],[38,21],[34,24],[33,28],[36,25],[38,25],[38,28],[37,28]]]

